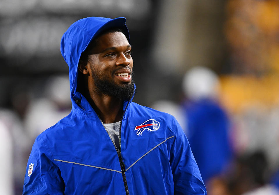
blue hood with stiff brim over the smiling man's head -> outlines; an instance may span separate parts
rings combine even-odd
[[[83,18],[72,24],[61,38],[60,51],[69,66],[69,78],[72,101],[81,100],[81,94],[77,93],[78,63],[81,53],[88,44],[102,31],[120,27],[130,43],[129,31],[125,24],[126,18],[115,19],[103,17]]]

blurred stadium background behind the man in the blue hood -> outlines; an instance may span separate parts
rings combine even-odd
[[[134,101],[177,118],[209,195],[279,194],[278,0],[1,0],[1,194],[70,112],[60,39],[90,16],[127,18]]]

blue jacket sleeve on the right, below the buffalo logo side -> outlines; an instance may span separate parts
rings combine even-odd
[[[173,172],[174,194],[206,195],[205,185],[188,139],[175,118],[173,130],[175,140],[170,153],[170,166]]]

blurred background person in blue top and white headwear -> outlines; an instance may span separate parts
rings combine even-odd
[[[205,67],[190,69],[183,79],[187,137],[205,182],[221,174],[232,159],[230,121],[218,103],[219,80]]]

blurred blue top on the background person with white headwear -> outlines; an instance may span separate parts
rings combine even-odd
[[[211,99],[187,101],[184,110],[189,143],[206,183],[211,177],[220,175],[232,159],[229,118],[221,106]]]

